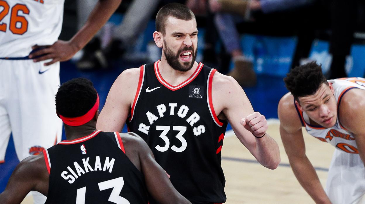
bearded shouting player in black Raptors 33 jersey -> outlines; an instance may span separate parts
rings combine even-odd
[[[195,16],[185,5],[162,7],[153,33],[163,51],[161,60],[120,74],[97,128],[120,131],[127,122],[147,142],[178,192],[192,203],[224,203],[220,163],[228,121],[265,167],[275,169],[280,154],[266,133],[265,117],[253,111],[241,86],[195,62],[197,32]]]

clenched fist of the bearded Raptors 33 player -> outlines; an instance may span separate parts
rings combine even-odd
[[[254,136],[261,137],[265,135],[268,130],[268,122],[264,115],[259,112],[251,113],[246,118],[242,118],[240,121],[241,125],[250,131]]]

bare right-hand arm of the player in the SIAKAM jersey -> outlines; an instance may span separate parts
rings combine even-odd
[[[155,161],[147,143],[137,134],[122,136],[128,158],[145,176],[147,190],[161,204],[190,204],[172,185],[166,172]],[[122,134],[126,135],[126,134]]]

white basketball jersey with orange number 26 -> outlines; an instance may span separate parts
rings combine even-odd
[[[61,33],[64,0],[0,0],[0,57],[26,57]]]

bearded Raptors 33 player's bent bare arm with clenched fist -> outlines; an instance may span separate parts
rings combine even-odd
[[[254,112],[241,86],[232,78],[215,73],[212,82],[212,100],[216,112],[223,112],[243,145],[263,166],[276,169],[280,163],[279,147],[266,133],[266,119]],[[219,115],[222,117],[222,115]],[[243,120],[241,120],[244,118]],[[261,137],[262,138],[256,138]]]

